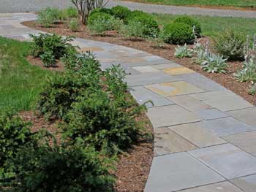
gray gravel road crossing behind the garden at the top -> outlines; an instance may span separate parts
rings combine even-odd
[[[67,7],[69,0],[0,0],[0,12],[29,12],[38,11],[42,8]],[[146,12],[168,13],[175,15],[209,15],[236,18],[256,18],[256,12],[226,9],[204,9],[197,7],[177,7],[166,5],[140,4],[129,1],[110,0],[108,7],[123,5],[130,9],[141,9]]]

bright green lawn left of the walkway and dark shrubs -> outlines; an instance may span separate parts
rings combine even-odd
[[[0,37],[0,110],[31,110],[42,83],[52,72],[31,66],[25,56],[29,43]]]

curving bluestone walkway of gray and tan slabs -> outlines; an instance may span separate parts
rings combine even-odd
[[[20,25],[32,14],[0,14],[0,35],[29,40]],[[75,39],[102,69],[121,64],[154,126],[154,159],[146,192],[255,192],[256,108],[221,85],[173,61],[129,47]],[[1,46],[1,45],[0,45]],[[1,83],[1,82],[0,82]]]

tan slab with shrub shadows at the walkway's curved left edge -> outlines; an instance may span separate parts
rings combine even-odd
[[[195,145],[168,128],[157,128],[154,131],[155,156],[195,149],[197,149]]]

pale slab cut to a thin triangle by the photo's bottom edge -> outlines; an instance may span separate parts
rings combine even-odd
[[[190,188],[180,192],[243,192],[230,182],[214,183],[211,185],[204,185],[198,188]]]

